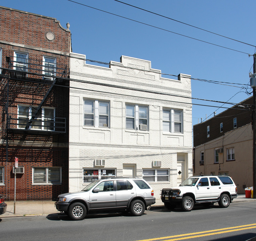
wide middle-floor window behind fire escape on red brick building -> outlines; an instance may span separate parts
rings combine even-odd
[[[30,129],[42,131],[54,131],[55,109],[42,107],[37,112],[34,106],[18,105],[18,128],[24,129],[29,120],[34,117]],[[35,115],[36,114],[36,115]]]

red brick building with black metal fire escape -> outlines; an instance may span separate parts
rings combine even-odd
[[[0,6],[0,193],[55,199],[68,191],[69,24]]]

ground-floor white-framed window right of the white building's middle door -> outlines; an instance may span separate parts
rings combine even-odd
[[[148,182],[169,181],[168,169],[144,169],[142,170],[142,178]]]

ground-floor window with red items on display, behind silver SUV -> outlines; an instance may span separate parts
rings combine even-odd
[[[115,177],[116,169],[106,168],[83,168],[83,182],[93,182],[98,179],[106,179],[108,177]]]

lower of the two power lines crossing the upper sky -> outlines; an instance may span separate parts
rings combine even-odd
[[[98,9],[98,8],[94,8],[94,7],[91,7],[91,6],[88,6],[88,5],[85,5],[85,4],[82,4],[82,3],[79,3],[79,2],[75,2],[75,1],[72,1],[72,0],[68,0],[68,1],[73,2],[73,3],[80,4],[80,5],[82,5],[82,6],[89,7],[89,8],[92,8],[92,9],[95,9],[95,10],[98,10],[98,11],[101,11],[101,12],[109,13],[109,14],[112,14],[112,15],[117,16],[117,17],[125,18],[125,19],[128,19],[128,20],[131,20],[131,21],[137,22],[137,23],[141,23],[141,24],[144,24],[144,25],[147,25],[147,26],[150,26],[150,27],[154,27],[154,28],[161,29],[161,30],[164,30],[164,31],[167,31],[167,32],[171,32],[171,33],[174,33],[174,34],[177,34],[177,35],[183,36],[183,37],[191,38],[191,39],[194,39],[194,40],[197,40],[197,41],[200,41],[200,42],[206,43],[206,44],[214,45],[214,46],[217,46],[217,47],[220,47],[220,48],[224,48],[224,49],[228,49],[228,50],[236,51],[236,52],[239,52],[239,53],[242,53],[242,54],[247,54],[247,55],[251,56],[251,54],[248,54],[248,53],[246,53],[246,52],[242,52],[242,51],[234,50],[234,49],[227,48],[227,47],[224,47],[224,46],[221,46],[221,45],[213,44],[213,43],[210,43],[210,42],[207,42],[207,41],[203,41],[203,40],[198,39],[198,38],[189,37],[189,36],[184,35],[184,34],[181,34],[181,33],[176,33],[176,32],[173,32],[173,31],[170,31],[170,30],[164,29],[164,28],[160,28],[160,27],[157,27],[157,26],[154,26],[154,25],[151,25],[151,24],[147,24],[147,23],[144,23],[144,22],[140,22],[140,21],[137,21],[137,20],[134,20],[134,19],[131,19],[131,18],[127,18],[127,17],[121,16],[121,15],[115,14],[115,13],[111,13],[111,12],[104,11],[104,10],[101,10],[101,9]]]

